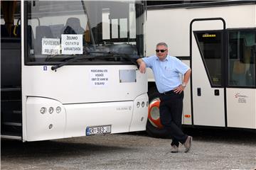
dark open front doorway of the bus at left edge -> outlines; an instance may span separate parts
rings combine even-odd
[[[21,139],[21,1],[1,7],[1,137]]]

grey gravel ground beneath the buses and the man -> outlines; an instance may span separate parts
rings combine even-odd
[[[185,129],[191,151],[144,132],[42,142],[1,140],[1,169],[256,169],[256,132]]]

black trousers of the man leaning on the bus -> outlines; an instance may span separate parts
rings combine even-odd
[[[181,94],[176,94],[174,91],[169,91],[166,94],[160,95],[160,119],[161,124],[171,134],[171,146],[176,145],[178,142],[182,144],[186,141],[188,135],[184,134],[181,130],[181,117],[183,109],[183,91]]]

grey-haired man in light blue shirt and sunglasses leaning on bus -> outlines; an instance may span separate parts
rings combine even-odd
[[[160,119],[161,124],[171,134],[171,152],[178,152],[178,144],[181,142],[185,152],[191,149],[192,137],[181,130],[181,117],[183,109],[183,90],[188,83],[191,69],[178,60],[168,55],[168,46],[165,42],[156,45],[156,55],[137,60],[139,71],[146,72],[146,67],[152,69],[156,88],[160,93]],[[183,74],[181,82],[179,74]]]

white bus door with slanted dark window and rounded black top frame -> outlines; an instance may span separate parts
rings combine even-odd
[[[224,31],[222,18],[191,21],[193,125],[225,126]]]

